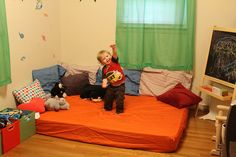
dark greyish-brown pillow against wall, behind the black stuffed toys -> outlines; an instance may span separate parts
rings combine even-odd
[[[61,79],[62,84],[65,86],[65,92],[68,96],[80,95],[84,86],[89,84],[88,73],[64,76]]]

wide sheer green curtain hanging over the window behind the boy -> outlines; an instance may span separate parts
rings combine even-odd
[[[118,0],[116,44],[123,67],[192,70],[195,0]]]

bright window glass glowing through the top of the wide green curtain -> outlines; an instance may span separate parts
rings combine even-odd
[[[187,1],[146,0],[145,3],[124,2],[123,23],[186,25]],[[140,8],[137,12],[137,8]]]

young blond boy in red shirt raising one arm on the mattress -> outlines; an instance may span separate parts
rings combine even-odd
[[[112,55],[106,50],[98,52],[97,59],[103,65],[102,87],[107,88],[104,109],[111,111],[116,100],[116,113],[124,112],[125,75],[118,62],[116,45],[111,45]]]

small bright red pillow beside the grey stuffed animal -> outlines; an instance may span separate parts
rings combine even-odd
[[[29,110],[34,112],[45,112],[44,100],[42,98],[33,98],[29,103],[20,104],[17,106],[20,110]]]

